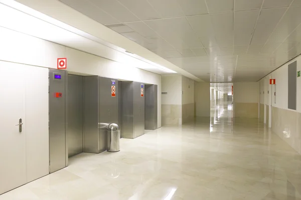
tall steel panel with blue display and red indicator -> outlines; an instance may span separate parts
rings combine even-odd
[[[49,157],[50,172],[67,166],[66,109],[67,72],[49,70]]]

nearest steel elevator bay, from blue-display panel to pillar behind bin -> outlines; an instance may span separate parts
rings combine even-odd
[[[106,150],[106,127],[118,123],[118,81],[49,70],[50,172],[68,157]]]

